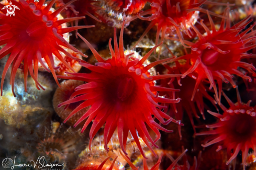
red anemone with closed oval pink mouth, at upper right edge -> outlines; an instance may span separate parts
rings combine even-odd
[[[226,8],[224,16],[228,15],[229,8]],[[217,31],[212,18],[209,16],[209,13],[208,17],[212,27],[212,32],[204,25],[203,20],[201,20],[201,24],[207,33],[206,36],[203,36],[192,25],[192,28],[197,33],[199,40],[195,43],[184,40],[184,43],[192,47],[191,54],[181,56],[179,58],[173,59],[172,61],[186,59],[187,61],[191,62],[192,66],[186,71],[186,73],[184,73],[184,75],[192,72],[198,74],[192,99],[195,96],[199,84],[202,81],[208,79],[210,83],[209,89],[212,87],[214,88],[216,96],[219,96],[217,97],[217,100],[220,103],[222,81],[225,83],[230,82],[233,87],[236,87],[235,82],[232,80],[233,76],[231,74],[236,74],[242,78],[248,79],[249,82],[251,82],[251,77],[246,76],[242,72],[238,71],[237,67],[241,67],[247,70],[249,73],[256,75],[253,71],[255,70],[253,65],[241,62],[243,56],[251,55],[247,54],[246,52],[256,47],[256,44],[249,46],[249,42],[255,38],[252,37],[254,32],[247,33],[252,29],[255,23],[248,29],[239,33],[252,21],[252,19],[249,20],[250,16],[232,27],[230,27],[230,20],[226,20],[224,18],[222,19],[220,28]],[[174,40],[173,38],[169,39]],[[215,81],[218,83],[219,92],[217,90]]]

